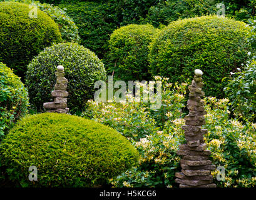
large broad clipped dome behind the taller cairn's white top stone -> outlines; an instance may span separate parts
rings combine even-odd
[[[204,73],[208,96],[223,96],[222,79],[248,59],[249,28],[225,17],[203,16],[172,22],[150,46],[150,70],[170,81],[191,81],[195,69]]]

